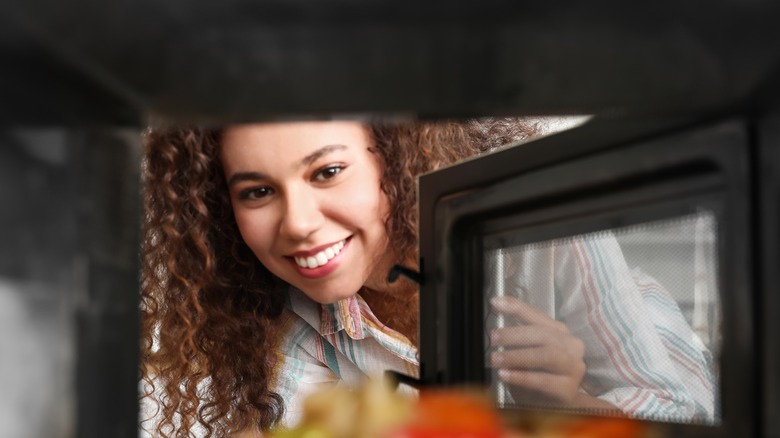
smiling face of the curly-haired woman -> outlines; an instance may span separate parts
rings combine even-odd
[[[272,273],[331,303],[383,284],[382,168],[357,122],[238,125],[221,160],[241,236]]]

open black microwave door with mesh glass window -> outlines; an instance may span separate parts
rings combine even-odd
[[[627,125],[596,121],[420,178],[421,380],[482,386],[510,416],[751,435],[748,126]],[[558,351],[583,345],[577,394],[536,348],[551,327]]]

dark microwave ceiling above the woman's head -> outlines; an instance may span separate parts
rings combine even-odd
[[[773,1],[4,0],[0,16],[6,125],[780,100]]]

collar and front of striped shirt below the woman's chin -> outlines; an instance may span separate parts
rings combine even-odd
[[[284,399],[283,425],[295,425],[303,399],[323,386],[357,386],[386,370],[418,377],[417,348],[382,324],[360,295],[318,304],[291,287],[288,297],[273,388]]]

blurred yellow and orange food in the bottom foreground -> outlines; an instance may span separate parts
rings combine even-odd
[[[506,412],[504,413],[506,414]],[[618,417],[516,412],[502,417],[485,391],[423,389],[418,399],[381,380],[358,388],[334,386],[311,394],[303,416],[271,438],[648,438],[648,425]]]

